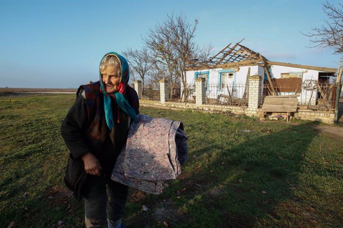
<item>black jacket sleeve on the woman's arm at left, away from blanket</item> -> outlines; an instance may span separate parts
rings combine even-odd
[[[86,99],[80,93],[61,125],[61,135],[74,159],[91,152],[86,138],[87,122]]]

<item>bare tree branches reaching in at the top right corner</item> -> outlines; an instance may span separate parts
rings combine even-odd
[[[310,48],[331,47],[335,50],[334,54],[343,54],[343,4],[339,3],[336,7],[327,1],[323,3],[323,10],[328,17],[324,24],[312,28],[311,32],[301,33],[310,37]]]

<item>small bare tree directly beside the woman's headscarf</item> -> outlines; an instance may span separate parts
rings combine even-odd
[[[146,75],[151,68],[147,48],[144,47],[141,50],[129,48],[123,52],[123,55],[129,62],[132,75],[135,76],[135,74],[138,74],[140,76],[142,87],[144,88]]]

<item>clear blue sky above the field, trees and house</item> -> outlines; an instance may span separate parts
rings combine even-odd
[[[337,68],[330,49],[308,49],[324,0],[0,0],[0,87],[77,88],[98,80],[100,58],[142,47],[167,13],[198,18],[196,43],[242,44],[273,61]],[[338,5],[339,0],[330,0]]]

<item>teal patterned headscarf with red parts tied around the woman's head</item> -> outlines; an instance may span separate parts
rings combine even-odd
[[[108,128],[112,129],[114,124],[113,124],[111,97],[113,99],[115,99],[115,101],[117,102],[117,105],[120,107],[120,109],[122,109],[126,114],[128,114],[134,120],[137,120],[137,114],[136,114],[135,110],[130,106],[130,104],[128,103],[128,101],[124,97],[125,92],[126,92],[126,86],[127,86],[127,83],[129,82],[129,78],[130,78],[129,64],[128,64],[127,60],[115,52],[109,52],[101,58],[100,64],[106,56],[116,56],[120,60],[120,65],[121,65],[118,92],[114,92],[112,94],[107,93],[106,90],[104,89],[104,84],[103,84],[101,72],[99,69],[100,92],[103,94],[105,119],[106,119],[106,123],[107,123]]]

